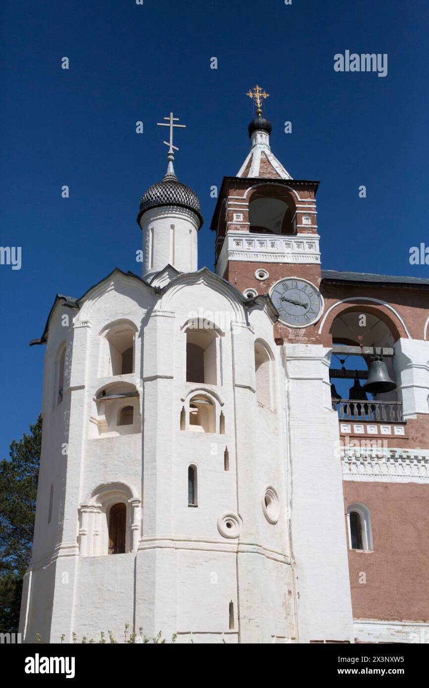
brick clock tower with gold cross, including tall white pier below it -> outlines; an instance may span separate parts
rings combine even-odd
[[[258,296],[269,294],[278,310],[274,337],[282,366],[276,384],[284,393],[285,464],[293,475],[289,513],[300,642],[350,642],[342,470],[335,454],[339,431],[328,373],[332,338],[319,334],[319,182],[294,180],[275,158],[271,123],[261,109],[268,94],[257,85],[247,95],[257,106],[249,125],[251,149],[236,177],[224,177],[220,189],[211,224],[216,272],[249,299],[250,308],[260,307]],[[321,517],[322,536],[314,528]]]

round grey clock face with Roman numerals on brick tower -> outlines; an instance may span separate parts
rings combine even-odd
[[[277,308],[280,320],[289,327],[306,327],[319,319],[323,300],[320,291],[311,282],[288,277],[275,284],[271,301]]]

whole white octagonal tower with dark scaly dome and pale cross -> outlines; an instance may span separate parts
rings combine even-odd
[[[169,147],[140,204],[144,279],[116,269],[57,298],[34,342],[47,355],[26,642],[121,640],[125,623],[180,643],[297,640],[276,311],[196,270],[200,204]]]

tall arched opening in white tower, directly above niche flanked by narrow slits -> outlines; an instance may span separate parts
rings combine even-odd
[[[216,330],[195,329],[186,332],[186,380],[189,383],[220,384],[220,338]]]

